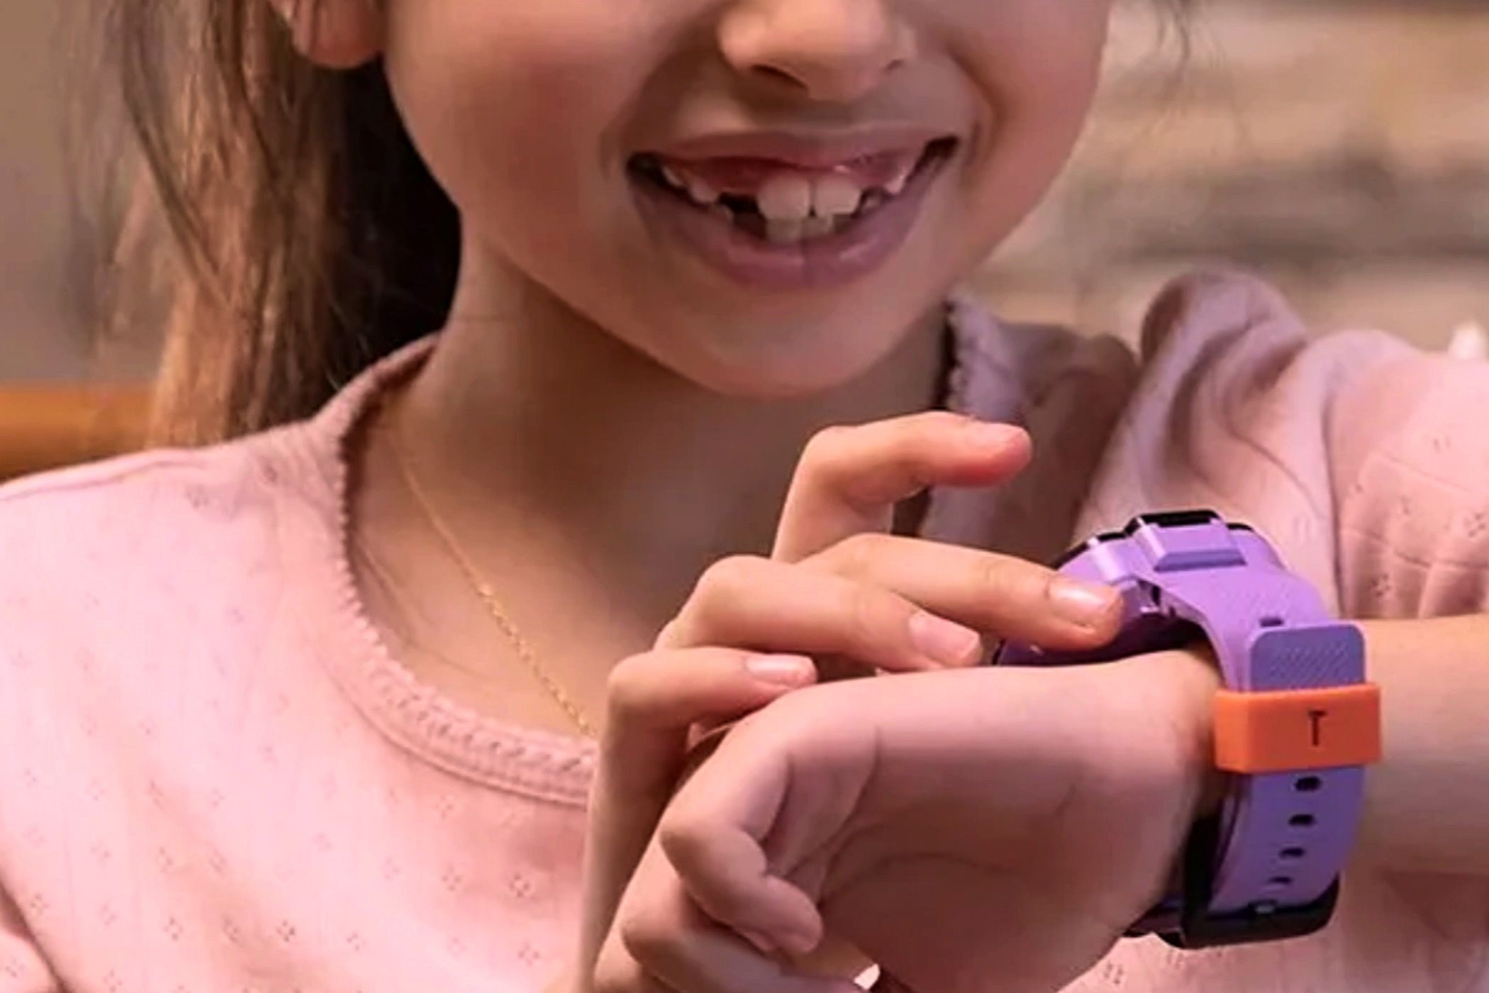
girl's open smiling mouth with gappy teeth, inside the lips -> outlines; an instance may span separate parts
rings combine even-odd
[[[826,170],[764,159],[680,161],[631,156],[627,171],[666,197],[707,213],[765,246],[807,246],[852,232],[950,158],[956,138],[919,155],[865,156]]]

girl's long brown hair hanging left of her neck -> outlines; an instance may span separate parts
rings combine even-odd
[[[1181,40],[1191,1],[1155,0]],[[150,444],[307,417],[444,323],[459,216],[381,64],[313,67],[265,0],[109,4],[124,103],[171,234],[121,269],[127,292],[150,272],[165,280]]]

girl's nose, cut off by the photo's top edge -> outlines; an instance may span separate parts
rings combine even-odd
[[[850,103],[913,58],[896,0],[742,0],[719,24],[740,74],[810,100]]]

